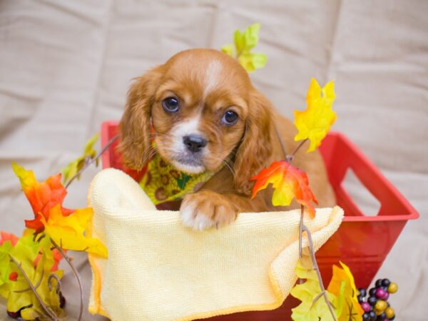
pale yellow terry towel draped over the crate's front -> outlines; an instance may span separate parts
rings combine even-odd
[[[272,310],[297,280],[300,210],[241,213],[225,228],[194,231],[178,212],[156,210],[138,183],[114,169],[96,175],[88,202],[88,234],[108,248],[108,259],[89,255],[93,314],[163,321]],[[315,249],[342,217],[335,207],[305,218]]]

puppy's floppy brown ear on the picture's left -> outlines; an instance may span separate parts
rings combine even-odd
[[[127,168],[141,170],[151,154],[151,107],[161,83],[162,66],[136,78],[119,123],[118,151]]]

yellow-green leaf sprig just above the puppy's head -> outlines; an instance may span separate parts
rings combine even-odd
[[[252,73],[258,68],[263,68],[267,62],[265,54],[253,53],[253,49],[259,41],[260,24],[252,24],[243,33],[239,30],[235,31],[233,42],[235,45],[235,58],[238,59],[241,66],[246,71]],[[234,56],[234,46],[227,44],[221,48],[228,56]]]

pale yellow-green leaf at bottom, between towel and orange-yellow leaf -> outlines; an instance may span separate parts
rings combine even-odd
[[[304,255],[297,261],[295,272],[297,277],[305,279],[305,282],[295,285],[290,291],[293,297],[301,301],[300,305],[292,309],[292,320],[333,320],[324,297],[319,297],[321,288],[318,282],[317,272],[315,272],[312,261],[307,255]],[[335,306],[337,297],[328,291],[326,291],[326,294],[327,299]]]

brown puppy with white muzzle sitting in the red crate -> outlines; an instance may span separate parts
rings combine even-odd
[[[118,151],[128,168],[141,170],[158,153],[189,175],[212,173],[180,203],[183,224],[195,230],[228,225],[242,212],[299,206],[274,207],[271,188],[250,198],[250,178],[285,159],[280,139],[286,153],[295,150],[296,129],[253,87],[238,61],[220,51],[182,51],[136,78],[119,133]],[[293,165],[307,173],[321,207],[335,205],[320,153],[301,151]]]

